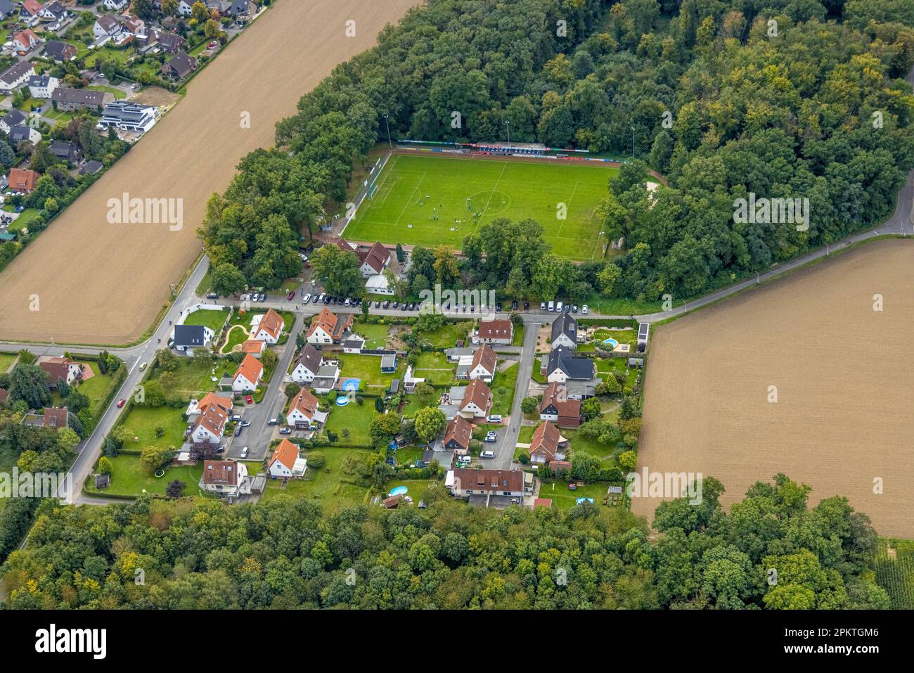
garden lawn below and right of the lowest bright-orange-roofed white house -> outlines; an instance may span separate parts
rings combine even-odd
[[[327,458],[326,465],[315,470],[310,465],[301,479],[290,479],[286,488],[280,488],[279,479],[267,479],[267,488],[263,492],[263,501],[286,494],[290,497],[304,497],[314,501],[326,510],[362,505],[368,493],[364,486],[346,483],[352,475],[343,472],[343,464],[349,456],[371,453],[366,449],[340,449],[321,447],[315,449]],[[307,454],[305,454],[307,458]]]

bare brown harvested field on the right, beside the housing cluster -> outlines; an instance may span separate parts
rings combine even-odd
[[[912,325],[914,241],[883,240],[657,327],[639,471],[716,476],[726,506],[782,472],[914,538]]]

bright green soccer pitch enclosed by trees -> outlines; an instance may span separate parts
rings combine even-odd
[[[464,237],[495,218],[536,219],[559,256],[597,259],[602,247],[594,209],[616,171],[537,159],[394,155],[344,236],[460,248]]]

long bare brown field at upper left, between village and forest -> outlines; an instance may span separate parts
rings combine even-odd
[[[207,199],[337,63],[416,0],[282,0],[189,84],[172,112],[0,275],[0,339],[125,344],[197,258]],[[356,37],[345,22],[356,20]],[[241,127],[250,112],[250,128]],[[109,224],[109,198],[183,198],[184,227]],[[39,310],[30,311],[37,294]]]

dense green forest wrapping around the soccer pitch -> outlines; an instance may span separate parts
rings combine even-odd
[[[508,122],[516,141],[637,157],[600,207],[622,255],[541,256],[516,287],[699,294],[887,218],[914,167],[912,65],[905,0],[430,0],[303,96],[275,148],[213,196],[199,235],[220,290],[276,287],[386,121],[398,138],[471,141],[501,139]],[[655,202],[646,167],[669,179]],[[749,193],[809,199],[809,229],[734,222]],[[499,226],[536,237],[540,225]],[[499,255],[468,238],[464,250]],[[509,281],[461,263],[459,282]]]

